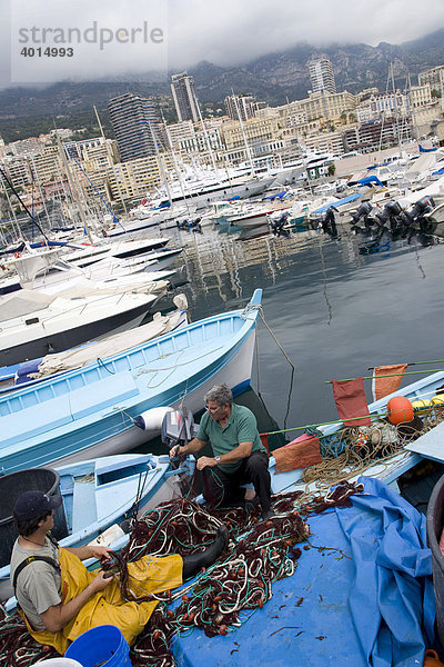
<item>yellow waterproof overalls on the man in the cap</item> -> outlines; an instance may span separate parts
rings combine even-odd
[[[63,548],[59,548],[59,560],[62,577],[62,604],[65,604],[84,590],[97,573],[87,570],[74,554]],[[128,573],[128,588],[135,597],[142,597],[150,593],[162,593],[182,584],[182,558],[178,555],[164,558],[144,556],[135,563],[129,563]],[[127,603],[120,593],[120,581],[114,578],[107,588],[90,598],[79,614],[58,633],[33,630],[24,614],[21,613],[21,615],[30,635],[37,641],[53,646],[60,655],[63,655],[70,643],[79,635],[107,624],[117,626],[128,644],[131,645],[143,630],[157,605],[157,600]]]

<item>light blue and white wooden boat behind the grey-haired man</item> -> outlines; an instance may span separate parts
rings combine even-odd
[[[214,384],[251,380],[261,290],[245,310],[213,316],[94,364],[0,397],[6,472],[129,451],[159,434],[139,415],[186,401],[198,412]]]

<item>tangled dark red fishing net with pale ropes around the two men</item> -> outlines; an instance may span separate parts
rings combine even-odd
[[[300,510],[320,512],[335,506],[347,506],[350,497],[362,487],[344,482],[325,496],[312,498]],[[121,581],[125,599],[158,599],[144,631],[131,647],[133,667],[170,667],[174,658],[170,646],[178,633],[198,627],[206,636],[226,635],[235,630],[271,598],[272,585],[294,574],[297,559],[310,534],[307,522],[295,511],[301,491],[273,496],[278,516],[259,520],[259,507],[233,507],[208,511],[188,499],[175,499],[134,521],[128,546],[114,554],[108,566]],[[204,550],[223,524],[230,540],[215,564],[201,571],[180,590],[137,598],[131,589],[127,563],[145,554],[186,556]],[[0,667],[28,667],[57,654],[37,644],[26,630],[18,614],[0,619]]]

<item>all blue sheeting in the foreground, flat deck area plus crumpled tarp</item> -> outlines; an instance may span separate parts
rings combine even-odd
[[[181,667],[422,667],[435,615],[425,517],[360,481],[353,507],[309,518],[311,548],[263,609],[224,637],[176,638]]]

